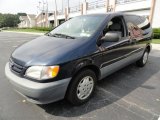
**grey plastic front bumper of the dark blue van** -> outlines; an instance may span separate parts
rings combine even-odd
[[[5,74],[18,93],[36,104],[47,104],[63,99],[71,80],[67,78],[50,83],[33,82],[12,73],[9,63],[6,64]]]

